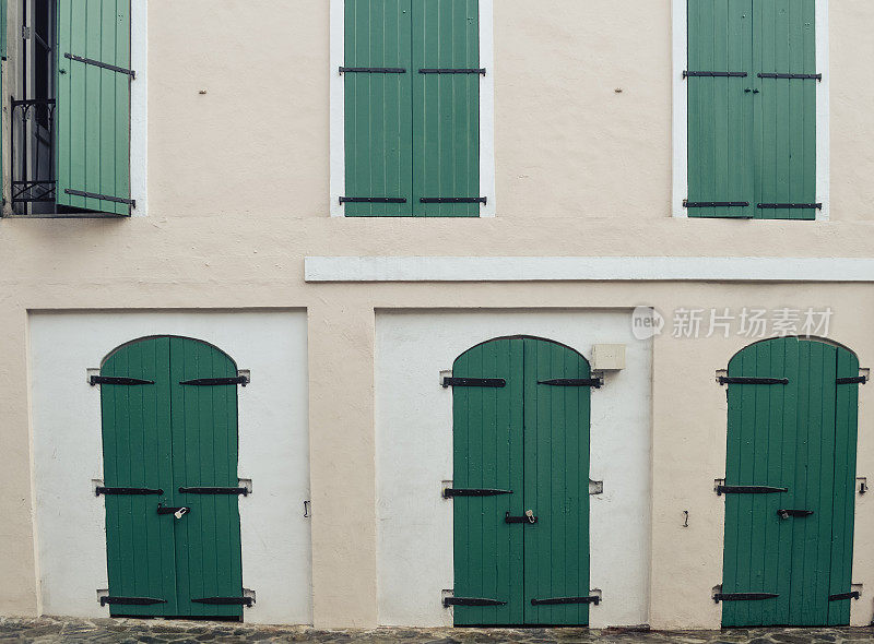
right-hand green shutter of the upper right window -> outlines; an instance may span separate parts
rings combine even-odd
[[[753,70],[756,105],[756,205],[816,202],[815,79],[759,74],[816,74],[814,0],[756,0]],[[814,207],[757,207],[757,216],[815,219]]]

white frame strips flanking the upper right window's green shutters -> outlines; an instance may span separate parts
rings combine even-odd
[[[683,200],[688,195],[688,81],[683,71],[688,61],[688,0],[672,0],[673,32],[673,188],[671,213],[674,217],[688,217]],[[830,217],[829,182],[829,60],[828,60],[828,0],[815,0],[816,72],[823,74],[816,83],[816,201],[823,210],[816,211],[817,222]],[[751,219],[737,219],[749,222]]]

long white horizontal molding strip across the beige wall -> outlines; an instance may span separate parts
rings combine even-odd
[[[874,282],[865,258],[308,257],[307,282]]]

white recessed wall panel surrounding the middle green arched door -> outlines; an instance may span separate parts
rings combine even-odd
[[[625,344],[626,368],[592,392],[590,625],[648,621],[651,341],[631,335],[631,311],[379,312],[376,342],[378,607],[382,625],[449,625],[452,588],[452,390],[441,370],[493,337],[535,335],[591,360],[593,344]]]

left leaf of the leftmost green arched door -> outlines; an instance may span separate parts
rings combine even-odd
[[[150,338],[127,345],[103,365],[103,375],[152,380],[154,385],[101,386],[104,482],[108,487],[147,487],[164,496],[103,497],[109,594],[157,597],[153,606],[111,605],[111,615],[176,613],[176,562],[173,524],[157,514],[173,489],[169,472],[170,432],[168,343]]]

